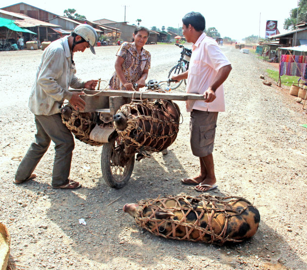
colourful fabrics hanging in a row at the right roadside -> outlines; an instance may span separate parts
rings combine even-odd
[[[304,55],[282,54],[279,74],[307,78],[307,59]]]

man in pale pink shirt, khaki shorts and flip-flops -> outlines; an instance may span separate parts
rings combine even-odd
[[[217,187],[213,163],[213,144],[219,111],[225,111],[223,82],[231,65],[216,41],[203,32],[205,18],[199,12],[190,12],[182,18],[183,35],[192,42],[189,70],[172,77],[187,80],[187,93],[204,95],[204,101],[187,101],[191,112],[190,141],[192,153],[199,157],[200,174],[185,178],[185,184],[194,184],[195,190],[206,192]]]

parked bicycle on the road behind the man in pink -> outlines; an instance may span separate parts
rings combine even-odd
[[[185,48],[183,45],[180,44],[175,43],[175,45],[178,46],[179,48],[182,48],[180,53],[181,56],[178,63],[175,66],[173,66],[173,68],[170,70],[168,78],[171,78],[174,75],[178,75],[179,73],[187,71],[189,69],[189,63],[192,55],[191,49]],[[170,85],[170,88],[172,90],[178,88],[182,84],[182,81],[184,81],[185,85],[187,85],[186,80],[181,80],[179,83],[172,83]]]

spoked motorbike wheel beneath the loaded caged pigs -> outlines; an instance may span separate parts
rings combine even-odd
[[[134,155],[126,157],[124,142],[118,136],[103,144],[101,152],[101,171],[103,179],[113,188],[119,189],[127,184],[134,168]]]

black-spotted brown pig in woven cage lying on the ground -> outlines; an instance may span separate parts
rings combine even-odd
[[[219,245],[248,239],[260,222],[258,210],[240,197],[159,197],[126,204],[124,212],[152,234]]]

